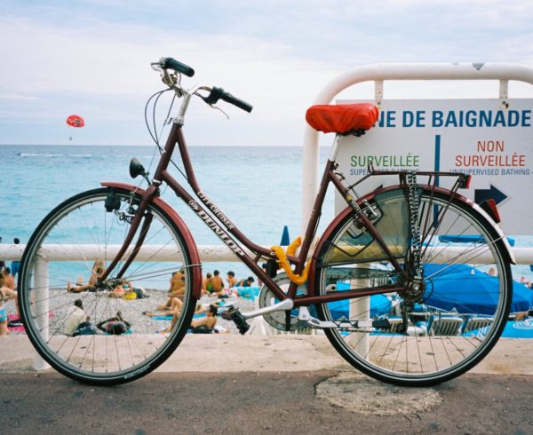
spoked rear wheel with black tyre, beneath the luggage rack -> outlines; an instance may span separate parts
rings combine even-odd
[[[363,288],[382,293],[317,305],[317,311],[322,320],[382,320],[378,327],[325,332],[355,368],[412,386],[439,384],[480,362],[505,327],[513,286],[505,244],[481,213],[447,194],[420,189],[419,198],[424,283],[418,292],[395,290],[402,276],[354,213],[322,244],[315,282],[322,295]],[[376,194],[363,210],[409,268],[404,191]]]

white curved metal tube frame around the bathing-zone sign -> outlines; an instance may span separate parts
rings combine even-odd
[[[363,82],[374,82],[375,99],[383,99],[385,80],[499,80],[499,98],[507,99],[509,80],[533,84],[533,69],[500,63],[390,63],[356,67],[326,84],[313,104],[330,104],[339,92]],[[302,233],[313,211],[318,186],[319,133],[306,125],[302,170]]]

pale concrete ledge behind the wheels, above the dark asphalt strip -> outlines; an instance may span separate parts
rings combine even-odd
[[[27,336],[1,336],[0,373],[36,371]],[[533,375],[533,341],[502,338],[471,373]],[[187,335],[156,372],[295,372],[352,370],[325,336]]]

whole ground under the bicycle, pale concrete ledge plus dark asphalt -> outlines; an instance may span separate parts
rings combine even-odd
[[[501,339],[472,372],[432,388],[374,381],[324,336],[187,336],[131,384],[78,384],[33,368],[0,337],[0,432],[533,433],[533,345]]]

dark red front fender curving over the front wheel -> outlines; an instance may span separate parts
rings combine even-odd
[[[138,186],[128,185],[126,183],[105,181],[100,183],[100,185],[104,187],[123,189],[140,195],[145,193],[144,189],[141,189]],[[193,281],[193,296],[196,299],[199,299],[202,296],[202,264],[200,262],[200,255],[198,254],[198,249],[196,248],[193,234],[191,234],[187,225],[185,222],[183,222],[183,219],[179,217],[178,213],[176,213],[176,211],[172,209],[167,202],[164,202],[163,199],[159,197],[155,197],[154,203],[169,215],[169,217],[172,219],[172,222],[178,227],[179,233],[183,237],[183,241],[185,241],[191,261],[190,269]]]

